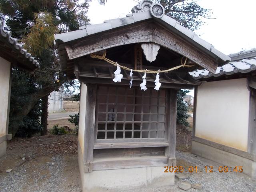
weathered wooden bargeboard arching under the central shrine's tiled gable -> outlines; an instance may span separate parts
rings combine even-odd
[[[133,26],[125,26],[102,32],[101,34],[91,35],[83,40],[67,44],[65,49],[69,59],[72,60],[100,50],[142,42],[154,42],[164,46],[185,56],[210,72],[215,72],[218,67],[214,58],[154,22],[138,23]]]

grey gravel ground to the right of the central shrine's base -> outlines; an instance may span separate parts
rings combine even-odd
[[[176,151],[176,158],[177,166],[183,166],[184,170],[187,171],[189,166],[198,166],[198,173],[186,173],[188,178],[182,180],[175,177],[174,186],[126,190],[125,192],[184,192],[184,190],[178,187],[180,182],[201,184],[203,190],[200,191],[203,192],[256,192],[256,181],[252,181],[243,173],[220,173],[218,167],[224,165],[198,157],[189,152]],[[205,166],[213,166],[213,173],[206,173]],[[188,191],[196,192],[199,190],[190,188]]]

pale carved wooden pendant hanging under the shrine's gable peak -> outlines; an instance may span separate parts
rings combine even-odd
[[[143,53],[146,56],[146,60],[150,63],[156,60],[156,56],[160,49],[160,46],[155,43],[142,43],[141,48],[143,49]]]

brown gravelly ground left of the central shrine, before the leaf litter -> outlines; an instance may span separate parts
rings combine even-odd
[[[80,192],[80,174],[76,164],[76,155],[41,157],[34,162],[26,162],[8,174],[0,174],[0,191]]]

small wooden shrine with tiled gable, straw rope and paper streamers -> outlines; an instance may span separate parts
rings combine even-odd
[[[230,59],[143,0],[126,18],[55,35],[62,70],[82,84],[78,162],[84,191],[174,184],[179,89]],[[158,74],[159,73],[159,74]]]

